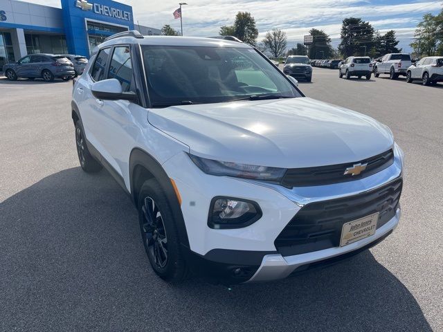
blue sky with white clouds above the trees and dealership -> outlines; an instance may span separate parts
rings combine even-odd
[[[399,47],[410,52],[415,26],[428,12],[437,14],[443,0],[186,0],[183,6],[183,35],[210,37],[219,28],[233,24],[238,11],[251,12],[259,31],[259,40],[266,31],[279,28],[287,33],[288,46],[302,42],[311,28],[324,30],[332,37],[332,45],[340,42],[341,22],[345,17],[361,17],[381,33],[396,30]],[[28,0],[60,8],[60,0]],[[91,0],[93,2],[93,0]],[[180,19],[172,12],[179,1],[119,1],[133,7],[134,22],[161,28],[170,24],[180,30]]]

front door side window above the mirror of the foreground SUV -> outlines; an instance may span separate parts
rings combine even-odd
[[[114,48],[108,78],[116,78],[122,84],[123,92],[127,92],[132,90],[133,74],[129,47],[118,46]]]

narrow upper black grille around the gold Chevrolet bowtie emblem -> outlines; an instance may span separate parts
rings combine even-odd
[[[366,169],[359,175],[345,175],[345,169],[352,167],[355,164],[368,164]],[[372,174],[386,169],[394,163],[394,152],[389,149],[383,154],[378,154],[365,160],[359,160],[354,163],[320,166],[320,167],[306,167],[306,168],[292,168],[288,169],[282,179],[284,187],[308,187],[312,185],[332,185],[333,183],[343,183],[347,181],[359,180]]]

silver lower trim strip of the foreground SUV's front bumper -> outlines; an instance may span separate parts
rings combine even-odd
[[[260,268],[257,269],[253,277],[248,282],[267,282],[274,279],[286,278],[291,273],[297,272],[298,268],[313,264],[318,261],[325,261],[333,257],[346,255],[350,252],[358,251],[361,248],[367,248],[372,243],[379,243],[380,239],[385,239],[388,234],[397,228],[399,224],[401,210],[397,209],[395,216],[385,225],[381,226],[372,237],[361,239],[345,247],[334,247],[306,254],[282,257],[280,254],[265,255]]]

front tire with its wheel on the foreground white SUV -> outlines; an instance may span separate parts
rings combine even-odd
[[[188,267],[170,202],[156,179],[143,183],[137,207],[143,246],[152,269],[165,281],[181,282],[188,277]]]

